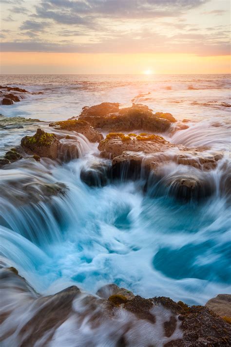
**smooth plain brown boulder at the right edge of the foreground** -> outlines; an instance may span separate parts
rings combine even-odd
[[[218,294],[215,298],[210,299],[205,306],[220,317],[231,318],[231,294]]]

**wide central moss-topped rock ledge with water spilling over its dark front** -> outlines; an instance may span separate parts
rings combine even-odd
[[[111,158],[112,165],[89,165],[81,171],[80,178],[89,186],[101,186],[112,180],[142,179],[143,189],[151,196],[170,195],[186,201],[199,201],[212,195],[215,184],[205,171],[216,167],[222,153],[205,152],[175,146],[161,136],[110,133],[98,145],[103,158]],[[166,174],[162,168],[169,163],[192,166],[189,174]],[[141,183],[142,183],[141,182]]]

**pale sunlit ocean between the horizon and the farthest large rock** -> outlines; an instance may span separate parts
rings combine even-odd
[[[231,75],[1,75],[2,85],[43,94],[28,96],[12,107],[0,106],[6,116],[44,121],[63,120],[85,105],[144,103],[177,119],[197,120],[229,114]]]

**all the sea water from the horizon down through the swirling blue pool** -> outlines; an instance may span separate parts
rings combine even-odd
[[[210,176],[215,183],[230,163],[231,75],[1,75],[0,84],[41,92],[0,105],[6,117],[50,122],[77,116],[86,105],[142,103],[189,120],[188,129],[163,134],[167,140],[224,153],[223,166]],[[0,128],[0,154],[36,127]],[[98,153],[96,144],[88,146],[92,157]],[[79,179],[84,158],[44,168],[44,179],[51,174],[70,188],[67,198],[54,199],[54,210],[0,200],[0,225],[20,235],[16,242],[4,229],[1,254],[33,287],[51,293],[75,284],[95,293],[116,283],[146,298],[164,295],[189,304],[231,292],[230,209],[223,197],[173,204],[143,195],[132,182],[92,189]],[[0,170],[5,180],[43,177],[40,166],[15,165]]]

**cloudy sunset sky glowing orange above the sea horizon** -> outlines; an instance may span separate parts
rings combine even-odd
[[[231,73],[230,10],[230,0],[0,0],[0,73]]]

